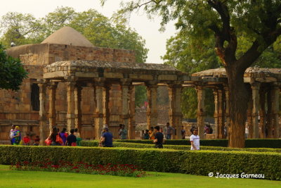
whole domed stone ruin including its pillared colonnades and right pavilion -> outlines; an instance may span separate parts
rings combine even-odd
[[[204,88],[214,89],[215,137],[223,138],[229,125],[228,78],[224,68],[204,70],[188,76],[163,64],[136,63],[135,52],[93,46],[79,32],[63,27],[41,44],[27,44],[7,49],[20,58],[29,77],[18,92],[0,90],[0,140],[8,142],[11,125],[21,131],[46,139],[52,126],[60,130],[77,127],[84,139],[99,139],[103,125],[118,137],[119,123],[134,138],[134,86],[147,88],[147,126],[157,125],[157,87],[169,90],[169,122],[181,135],[181,90],[197,91],[197,125],[204,134]],[[244,82],[251,89],[248,120],[249,137],[280,137],[280,69],[248,68]],[[271,131],[270,131],[271,130]]]

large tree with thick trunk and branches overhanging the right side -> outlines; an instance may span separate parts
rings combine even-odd
[[[105,0],[101,0],[102,3]],[[230,91],[230,147],[244,147],[249,91],[244,71],[281,34],[281,1],[275,0],[136,0],[124,4],[119,13],[143,8],[149,16],[162,16],[162,27],[176,20],[194,44],[213,38],[214,51],[226,68]],[[247,36],[249,47],[237,54],[239,36]]]

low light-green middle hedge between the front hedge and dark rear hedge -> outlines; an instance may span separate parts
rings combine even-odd
[[[82,141],[81,146],[96,147],[98,146],[98,141]],[[154,148],[153,144],[138,144],[130,142],[113,142],[115,147],[126,147],[126,148]],[[190,145],[167,145],[164,144],[164,149],[176,149],[176,150],[190,150]],[[251,151],[251,152],[277,152],[281,153],[281,149],[271,149],[271,148],[228,148],[228,147],[217,147],[217,146],[200,146],[201,150],[216,150],[216,151]]]

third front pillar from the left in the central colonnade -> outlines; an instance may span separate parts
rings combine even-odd
[[[75,127],[75,84],[74,81],[66,82],[67,87],[67,132]]]

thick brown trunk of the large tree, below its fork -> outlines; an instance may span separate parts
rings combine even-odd
[[[226,67],[230,95],[228,146],[233,148],[244,148],[249,91],[244,85],[244,71],[235,69],[237,69],[237,66]]]

